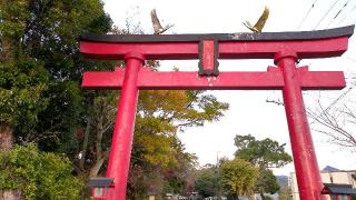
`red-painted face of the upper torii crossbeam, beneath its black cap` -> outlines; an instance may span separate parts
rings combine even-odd
[[[298,53],[298,59],[338,57],[347,49],[348,38],[303,41],[222,41],[219,59],[273,59],[283,48]],[[93,59],[123,59],[127,52],[140,52],[146,59],[198,59],[198,42],[103,43],[81,41],[80,52]]]

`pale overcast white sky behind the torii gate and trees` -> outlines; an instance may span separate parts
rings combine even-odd
[[[127,19],[140,24],[147,33],[152,33],[149,12],[157,10],[162,23],[174,23],[168,33],[230,33],[248,32],[243,21],[253,23],[267,6],[269,19],[265,32],[301,31],[343,27],[356,22],[356,0],[103,0],[105,9],[116,26],[126,28]],[[312,4],[314,3],[314,7]],[[339,12],[339,13],[338,13]],[[338,14],[337,14],[338,13]],[[335,18],[335,19],[334,19]],[[355,38],[355,37],[354,37]],[[356,42],[352,38],[349,50],[340,58],[303,60],[310,70],[346,72],[346,77],[356,73]],[[162,70],[178,67],[180,71],[196,71],[197,61],[162,61]],[[220,61],[220,71],[265,71],[273,66],[273,60],[234,60]],[[355,79],[347,79],[355,84]],[[345,90],[344,90],[345,91]],[[318,92],[306,91],[306,106],[313,108],[315,100],[322,97],[323,103],[333,102],[344,91]],[[288,128],[284,107],[267,103],[266,100],[283,100],[280,91],[209,91],[220,101],[228,102],[230,109],[220,121],[206,123],[201,128],[189,128],[179,138],[186,150],[196,153],[199,163],[215,163],[219,157],[233,158],[236,150],[236,134],[253,134],[257,139],[271,138],[287,143],[286,150],[291,154]],[[343,99],[355,97],[355,91]],[[355,101],[354,101],[355,102]],[[356,107],[354,107],[356,108]],[[312,129],[318,127],[312,122]],[[344,170],[356,169],[356,153],[333,146],[327,138],[313,131],[313,139],[319,168],[333,166]],[[294,171],[293,164],[274,170],[277,174]]]

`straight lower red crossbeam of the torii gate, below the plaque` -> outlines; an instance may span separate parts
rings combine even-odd
[[[297,73],[300,87],[305,90],[338,90],[345,87],[342,71],[307,71],[299,68]],[[123,69],[112,72],[87,71],[82,87],[120,89],[123,74]],[[281,90],[285,83],[277,68],[267,72],[220,72],[218,77],[199,77],[197,72],[157,72],[146,68],[138,72],[137,86],[140,90]]]

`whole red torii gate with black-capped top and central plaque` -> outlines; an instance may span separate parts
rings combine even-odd
[[[301,90],[339,90],[342,71],[308,71],[297,59],[339,57],[354,26],[303,32],[91,36],[80,38],[81,53],[91,59],[125,60],[126,69],[85,72],[82,87],[121,89],[112,136],[105,199],[123,200],[139,90],[283,90],[295,170],[303,200],[323,199],[323,183]],[[199,59],[199,72],[159,72],[147,59]],[[218,59],[274,59],[266,72],[219,72]],[[106,183],[102,183],[106,182]]]

